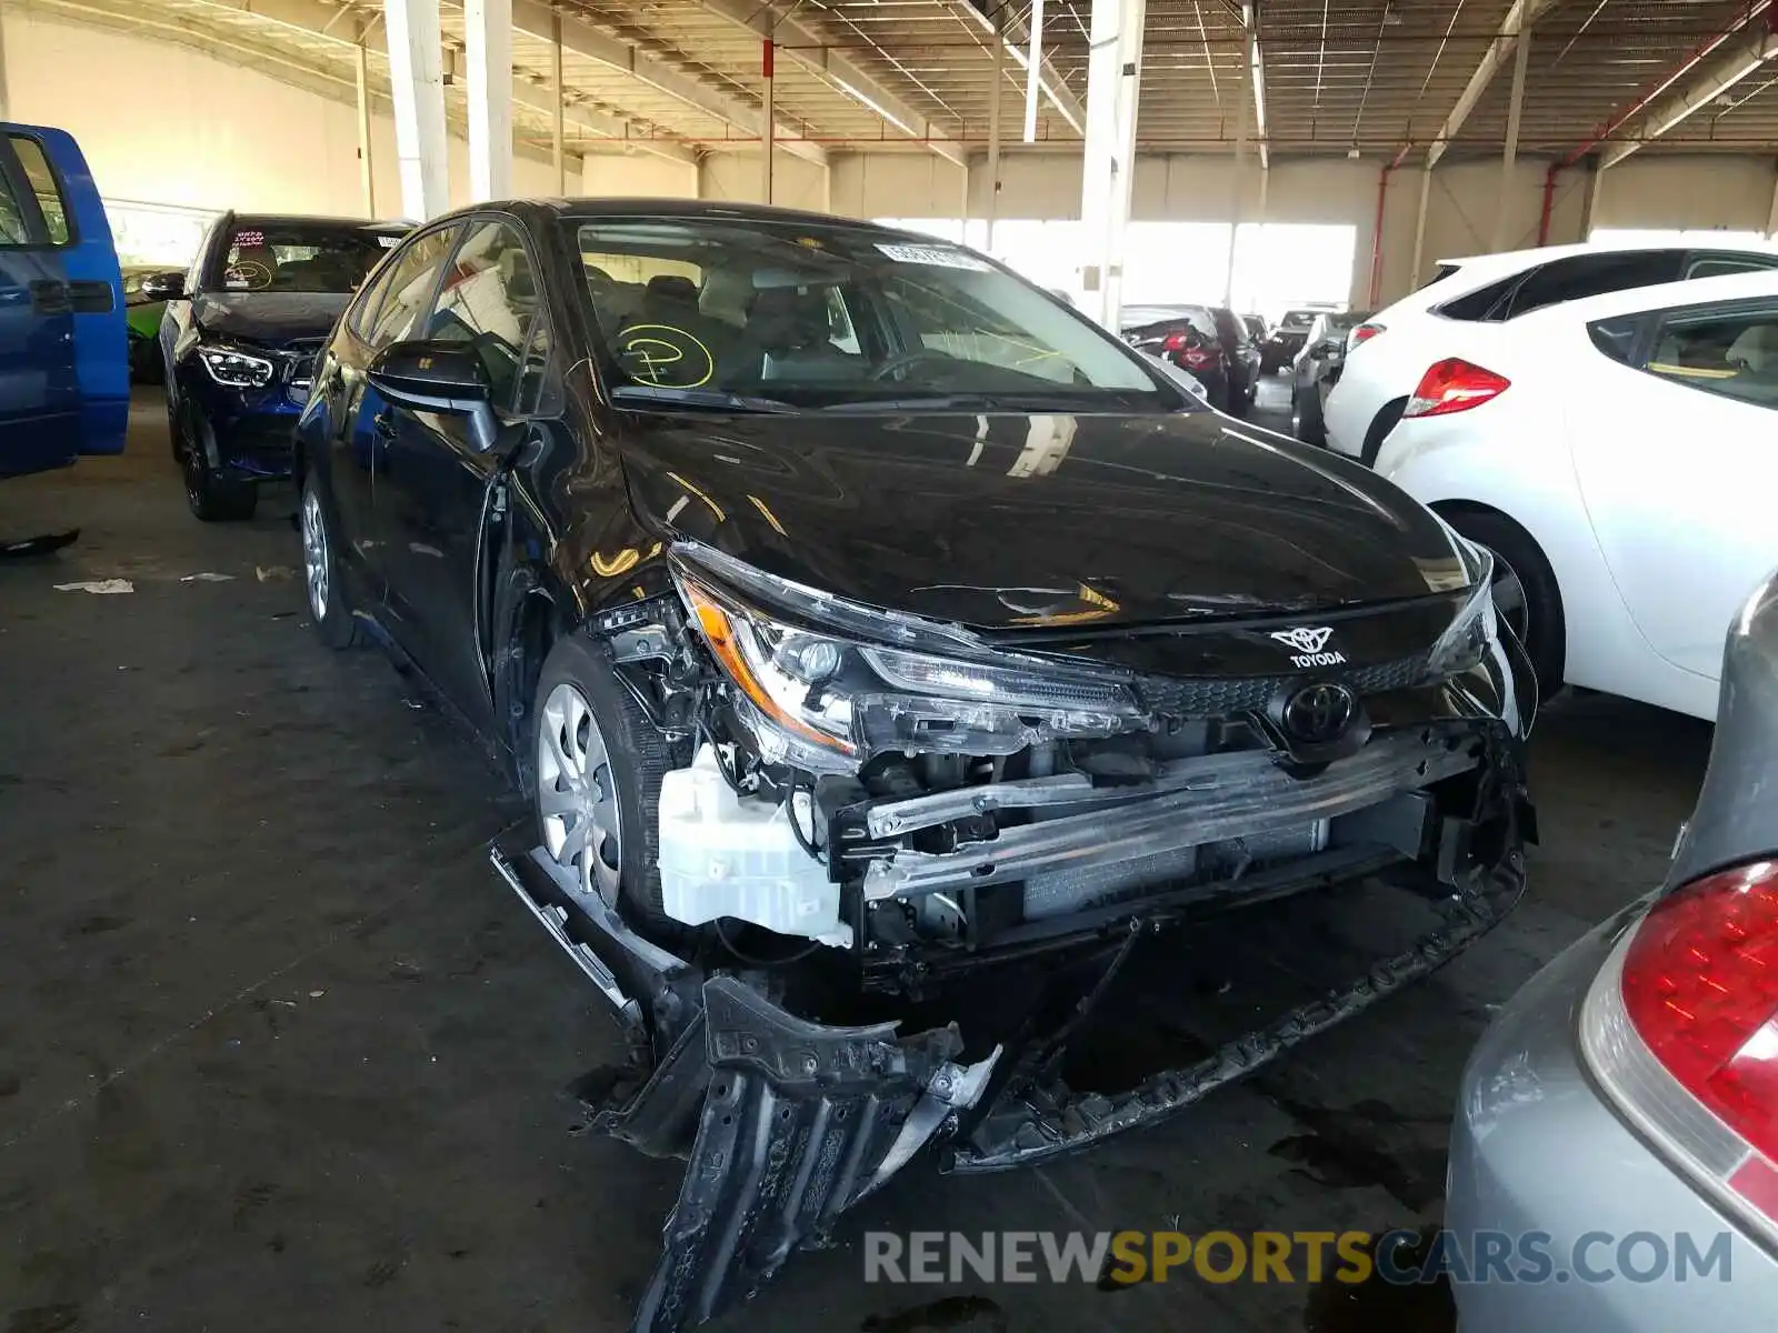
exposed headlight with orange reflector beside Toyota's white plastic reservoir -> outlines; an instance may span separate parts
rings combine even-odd
[[[693,624],[734,686],[736,713],[768,762],[853,773],[884,750],[1005,755],[1056,736],[1113,736],[1141,716],[1134,693],[1115,679],[1024,659],[889,647],[933,642],[916,633],[925,626],[912,617],[882,615],[873,642],[789,626],[699,579],[681,560],[674,572]],[[866,627],[875,615],[852,603],[825,603],[823,610],[839,610],[848,631]],[[935,627],[935,642],[944,640],[944,627]],[[967,640],[958,633],[949,642]]]

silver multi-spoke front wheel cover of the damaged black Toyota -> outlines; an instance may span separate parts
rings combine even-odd
[[[574,871],[580,890],[617,905],[619,803],[592,706],[567,681],[549,691],[537,718],[537,810],[544,848]]]

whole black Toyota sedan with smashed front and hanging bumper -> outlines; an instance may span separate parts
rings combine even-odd
[[[533,802],[493,860],[628,1033],[594,1123],[692,1159],[640,1328],[928,1143],[985,1171],[1152,1123],[1522,887],[1490,556],[971,251],[444,217],[334,331],[299,469],[322,640],[393,643]],[[1366,876],[1437,924],[1127,1091],[1058,1075],[1138,940]],[[1031,960],[1019,1024],[960,999]]]

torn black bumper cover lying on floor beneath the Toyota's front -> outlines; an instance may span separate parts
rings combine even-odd
[[[1495,926],[1524,887],[1518,848],[1529,809],[1522,787],[1515,780],[1486,800],[1490,818],[1506,830],[1492,862],[1472,860],[1479,821],[1462,819],[1446,819],[1433,834],[1438,846],[1419,862],[1396,858],[1394,882],[1438,901],[1437,928],[1207,1058],[1115,1095],[1072,1091],[1056,1074],[1061,1050],[1136,942],[1204,910],[1202,903],[1157,899],[1149,910],[1125,912],[1106,931],[1108,962],[1072,1006],[1074,1018],[1060,1031],[1026,1033],[1013,1047],[965,1059],[957,1024],[914,1034],[896,1024],[827,1027],[786,1011],[752,979],[699,974],[615,917],[576,910],[573,903],[583,899],[569,898],[553,862],[516,830],[493,850],[496,869],[596,981],[637,1056],[628,1068],[589,1075],[578,1090],[594,1127],[649,1153],[688,1157],[637,1329],[690,1328],[747,1299],[795,1248],[820,1239],[928,1145],[942,1145],[946,1169],[962,1173],[1092,1146],[1172,1116],[1444,965]],[[1465,862],[1467,873],[1440,883],[1442,873]],[[1337,858],[1326,882],[1367,869],[1378,864]],[[651,1049],[665,1054],[653,1059]]]

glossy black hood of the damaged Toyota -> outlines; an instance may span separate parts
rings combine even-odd
[[[624,412],[637,517],[869,606],[1095,627],[1424,599],[1444,524],[1369,469],[1218,412]]]

